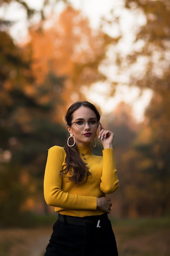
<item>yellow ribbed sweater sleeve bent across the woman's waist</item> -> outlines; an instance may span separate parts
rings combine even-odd
[[[53,146],[49,149],[44,173],[44,198],[47,204],[64,209],[91,209],[97,208],[97,198],[93,196],[73,195],[62,191],[62,170],[64,149]]]

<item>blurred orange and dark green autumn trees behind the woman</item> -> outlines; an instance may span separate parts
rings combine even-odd
[[[1,1],[0,7],[10,2]],[[142,76],[132,73],[127,85],[153,92],[144,121],[137,123],[124,102],[103,117],[115,133],[120,180],[119,191],[111,195],[113,214],[170,214],[170,5],[168,0],[126,0],[124,4],[145,16],[146,23],[134,40],[134,44],[142,40],[143,46],[124,58],[117,52],[115,62],[109,63],[108,49],[116,47],[122,36],[109,36],[102,26],[92,29],[88,18],[70,4],[50,18],[42,10],[42,19],[29,27],[24,44],[15,43],[8,33],[11,24],[0,20],[0,224],[7,224],[11,200],[15,212],[11,223],[26,211],[51,211],[43,199],[44,168],[47,149],[66,142],[66,109],[74,101],[88,99],[84,88],[93,83],[106,86],[107,81],[110,93],[116,90],[119,83],[108,79],[102,65],[116,64],[121,73],[139,58],[145,60],[144,72]],[[24,8],[30,20],[35,10]],[[95,152],[101,149],[98,145]]]

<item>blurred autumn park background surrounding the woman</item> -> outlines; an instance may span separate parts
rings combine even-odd
[[[169,0],[0,0],[0,255],[43,255],[47,149],[64,146],[82,100],[115,133],[120,256],[168,256]]]

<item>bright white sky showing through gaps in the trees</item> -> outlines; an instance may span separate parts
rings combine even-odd
[[[30,7],[40,9],[42,6],[43,0],[25,0]],[[54,0],[51,0],[54,2]],[[73,6],[77,9],[81,9],[85,16],[88,16],[90,20],[91,27],[94,29],[99,25],[99,19],[101,16],[109,17],[109,13],[111,9],[114,9],[115,15],[121,17],[120,27],[121,32],[124,37],[121,43],[117,46],[117,51],[121,51],[122,53],[128,53],[129,49],[132,47],[132,41],[134,38],[135,28],[134,22],[137,25],[144,24],[144,16],[141,13],[135,13],[132,15],[127,10],[123,9],[123,1],[122,0],[71,0],[70,1]],[[57,12],[62,11],[63,4],[57,4]],[[47,9],[48,13],[48,9]],[[137,19],[136,19],[137,15]],[[15,25],[13,26],[11,35],[15,38],[16,41],[20,42],[27,35],[26,29],[26,15],[24,11],[18,9],[18,4],[14,3],[11,5],[11,8],[2,10],[0,9],[0,17],[6,17],[15,20]],[[36,20],[37,19],[37,20]],[[36,17],[34,22],[38,21],[39,17]],[[106,31],[110,35],[116,35],[119,33],[117,27],[105,27]],[[114,55],[114,51],[110,52],[110,56]],[[109,56],[108,56],[109,58]],[[141,68],[142,65],[140,65]],[[105,74],[109,77],[110,81],[117,79],[120,81],[120,85],[117,87],[117,91],[114,97],[108,98],[108,85],[107,84],[93,84],[90,89],[83,88],[86,95],[88,95],[87,100],[93,103],[99,103],[102,105],[103,113],[109,113],[113,111],[113,109],[117,106],[117,104],[121,101],[125,101],[126,103],[132,106],[132,113],[137,121],[142,121],[144,117],[144,110],[150,99],[152,97],[152,92],[150,90],[144,90],[143,94],[140,95],[140,91],[135,86],[129,88],[126,85],[126,82],[122,82],[122,77],[117,76],[118,70],[115,66],[111,66],[107,70],[103,70]],[[138,70],[139,71],[139,70]],[[143,72],[143,70],[140,70]],[[123,77],[123,81],[128,81],[129,74],[125,74]]]

